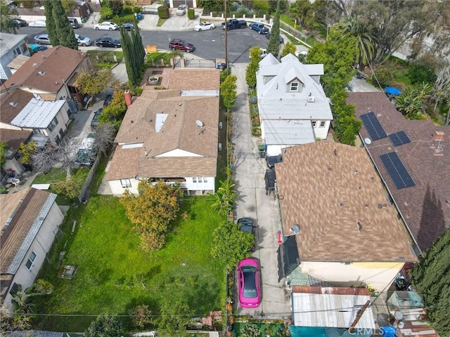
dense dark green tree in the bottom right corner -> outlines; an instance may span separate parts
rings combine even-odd
[[[441,336],[450,334],[450,229],[423,253],[411,270],[415,289],[423,296],[432,325]]]

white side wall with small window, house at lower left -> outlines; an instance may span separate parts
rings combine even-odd
[[[51,245],[53,244],[53,241],[55,239],[55,234],[58,231],[59,225],[63,222],[63,219],[63,213],[61,213],[58,205],[53,202],[53,205],[51,206],[49,213],[47,213],[44,223],[42,223],[39,232],[37,232],[36,237],[34,237],[34,241],[32,242],[30,249],[27,250],[25,258],[23,259],[22,263],[20,263],[20,267],[14,275],[11,286],[13,286],[14,283],[21,284],[23,286],[23,290],[25,290],[34,283],[34,280],[36,279],[37,274],[41,269],[42,264],[44,263],[46,253],[49,252]],[[34,260],[34,263],[32,264],[31,270],[28,270],[25,264],[27,263],[27,260],[30,257],[32,251],[36,253],[36,258]],[[9,293],[9,291],[11,290],[11,286],[10,289],[8,289],[8,293],[6,294],[4,305],[8,310],[13,311],[14,306],[13,303],[11,303],[13,296],[11,296],[11,293]]]

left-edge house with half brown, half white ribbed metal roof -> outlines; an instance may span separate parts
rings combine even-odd
[[[37,93],[20,89],[0,95],[0,109],[0,128],[32,131],[57,143],[70,124],[68,100],[43,100]]]

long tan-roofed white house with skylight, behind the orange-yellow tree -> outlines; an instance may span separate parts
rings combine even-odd
[[[219,135],[219,70],[155,70],[166,90],[146,85],[129,105],[105,180],[113,194],[137,194],[141,180],[214,191]]]

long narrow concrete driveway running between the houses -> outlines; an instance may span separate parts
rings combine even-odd
[[[257,249],[252,255],[261,264],[262,304],[257,309],[244,309],[240,308],[236,298],[236,310],[240,315],[255,317],[290,317],[290,291],[285,291],[284,280],[278,282],[278,206],[273,195],[266,195],[266,162],[259,158],[257,150],[257,145],[262,140],[251,136],[248,86],[245,83],[247,65],[240,63],[231,66],[232,74],[238,77],[232,136],[233,178],[238,193],[235,216],[236,220],[242,217],[253,218],[257,225]]]

